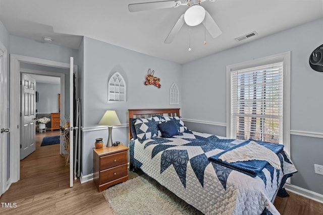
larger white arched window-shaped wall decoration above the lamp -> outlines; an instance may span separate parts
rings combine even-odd
[[[118,72],[107,83],[107,101],[126,101],[126,82]]]

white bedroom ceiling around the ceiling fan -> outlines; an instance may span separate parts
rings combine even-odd
[[[128,4],[160,0],[0,0],[0,20],[10,34],[78,49],[82,36],[177,63],[186,63],[323,17],[322,0],[217,0],[201,5],[222,30],[212,39],[204,26],[186,24],[164,41],[187,6],[129,12]],[[235,38],[258,35],[237,42]],[[310,33],[310,32],[308,32]],[[296,35],[297,36],[297,35]]]

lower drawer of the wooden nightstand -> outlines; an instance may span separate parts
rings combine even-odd
[[[118,178],[127,176],[128,175],[127,171],[128,171],[127,164],[100,171],[100,177],[99,177],[100,184],[104,184],[110,181],[114,181]]]

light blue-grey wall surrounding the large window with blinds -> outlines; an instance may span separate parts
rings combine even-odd
[[[323,73],[312,70],[308,64],[311,52],[323,43],[322,26],[323,19],[319,19],[184,64],[182,116],[226,123],[229,108],[226,107],[226,66],[291,51],[291,130],[323,135]],[[208,127],[203,130],[217,134],[217,127]],[[314,174],[314,163],[323,165],[321,152],[322,138],[292,135],[291,157],[300,170],[291,178],[293,185],[323,194],[323,176]]]

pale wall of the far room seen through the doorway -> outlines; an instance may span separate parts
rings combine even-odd
[[[38,113],[58,113],[58,94],[61,93],[61,86],[55,84],[36,83],[36,91],[39,94],[39,101],[36,102]]]

